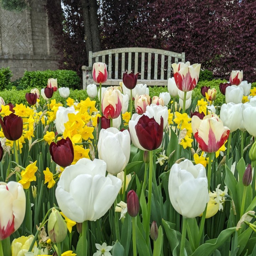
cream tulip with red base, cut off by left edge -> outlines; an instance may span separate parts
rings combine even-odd
[[[0,182],[0,240],[14,233],[22,224],[26,211],[26,196],[20,183]]]

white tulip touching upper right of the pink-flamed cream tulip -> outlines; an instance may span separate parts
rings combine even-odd
[[[220,119],[224,126],[230,129],[230,132],[234,132],[242,126],[242,111],[243,104],[228,103],[223,104],[220,108]]]

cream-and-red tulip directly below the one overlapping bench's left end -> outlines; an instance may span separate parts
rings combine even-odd
[[[123,105],[123,97],[119,90],[106,90],[102,97],[102,113],[108,119],[117,118]]]

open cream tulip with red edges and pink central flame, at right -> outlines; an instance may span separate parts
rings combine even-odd
[[[208,153],[218,151],[229,137],[229,128],[223,126],[216,114],[208,114],[203,120],[193,116],[191,125],[199,148]]]

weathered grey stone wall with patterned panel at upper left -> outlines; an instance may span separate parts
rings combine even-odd
[[[10,67],[12,80],[25,70],[58,69],[59,56],[44,5],[45,0],[33,0],[20,13],[0,9],[0,67]]]

